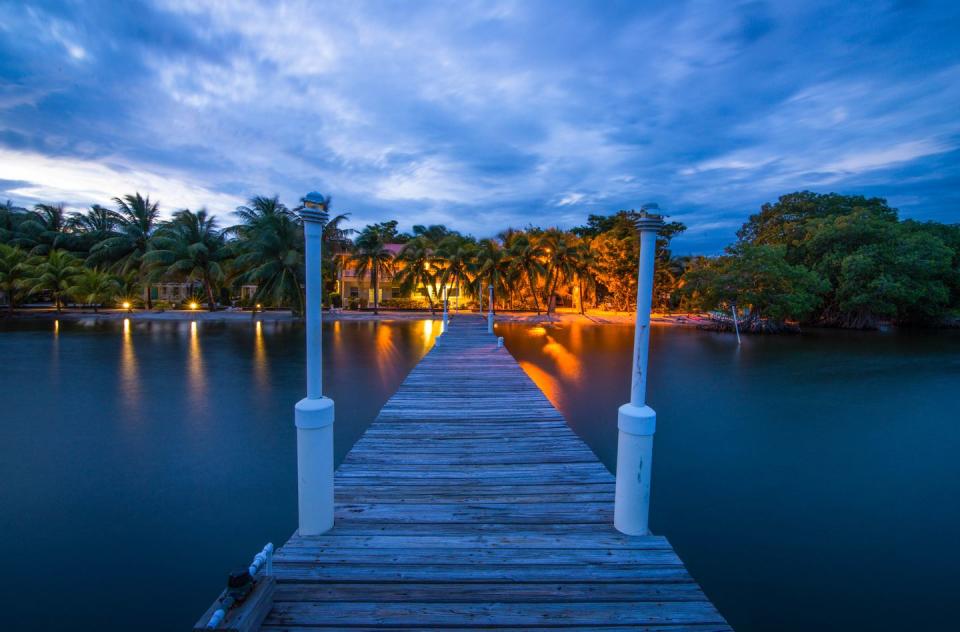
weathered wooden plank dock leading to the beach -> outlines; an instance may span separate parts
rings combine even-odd
[[[335,487],[334,528],[275,555],[261,629],[730,629],[665,538],[613,528],[614,477],[477,316]]]

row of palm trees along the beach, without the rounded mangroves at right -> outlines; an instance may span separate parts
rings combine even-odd
[[[303,225],[297,211],[277,197],[257,196],[239,207],[238,223],[221,227],[206,210],[179,210],[161,220],[160,207],[140,193],[68,212],[63,205],[33,209],[0,206],[0,291],[8,307],[49,298],[59,311],[68,301],[97,309],[130,302],[152,309],[151,286],[161,282],[196,284],[208,309],[229,304],[239,286],[256,286],[253,300],[302,313],[304,295]],[[325,301],[340,304],[333,280],[344,266],[369,278],[379,308],[381,282],[390,279],[403,291],[437,309],[441,288],[457,297],[480,297],[489,285],[495,305],[551,313],[557,299],[579,297],[581,310],[592,306],[629,309],[636,296],[638,242],[636,213],[591,215],[585,226],[508,229],[489,239],[443,225],[414,226],[400,232],[395,220],[362,230],[345,228],[348,214],[331,216],[323,235]],[[659,292],[668,302],[678,277],[670,238],[684,229],[668,225],[658,241],[664,262]],[[388,244],[402,244],[399,251]],[[632,271],[631,271],[632,269]],[[483,297],[485,299],[485,295]],[[661,307],[665,304],[661,304]]]

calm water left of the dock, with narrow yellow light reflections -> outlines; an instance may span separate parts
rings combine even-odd
[[[439,330],[325,324],[337,463]],[[188,629],[286,541],[303,345],[283,322],[0,322],[0,628]]]

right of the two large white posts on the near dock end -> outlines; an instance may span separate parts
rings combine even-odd
[[[657,207],[650,205],[649,208]],[[617,488],[613,511],[613,526],[627,535],[647,535],[650,532],[650,474],[657,414],[646,405],[647,353],[650,347],[650,309],[653,305],[654,252],[657,233],[663,225],[660,215],[651,215],[646,210],[641,211],[637,220],[640,266],[633,369],[630,403],[621,406],[617,415]]]

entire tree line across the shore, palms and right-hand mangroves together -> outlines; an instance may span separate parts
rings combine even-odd
[[[570,230],[528,226],[477,239],[443,225],[405,233],[394,220],[355,231],[345,227],[348,214],[331,214],[329,198],[323,207],[327,304],[351,304],[334,291],[339,271],[351,266],[375,288],[375,311],[387,279],[431,310],[444,287],[457,301],[484,301],[493,286],[497,309],[537,313],[549,314],[559,302],[575,302],[581,312],[635,305],[632,210],[590,215]],[[212,310],[231,304],[241,285],[255,285],[256,303],[302,313],[299,208],[257,196],[236,210],[236,224],[221,227],[205,210],[161,220],[159,204],[139,193],[85,212],[8,202],[0,206],[0,291],[11,309],[40,296],[57,309],[67,301],[96,309],[144,297],[149,309],[152,285],[189,282],[195,300]],[[960,307],[960,226],[900,220],[879,198],[782,196],[751,215],[716,257],[675,256],[671,240],[685,228],[670,222],[657,240],[655,309],[735,308],[745,329],[769,331],[941,322]]]

